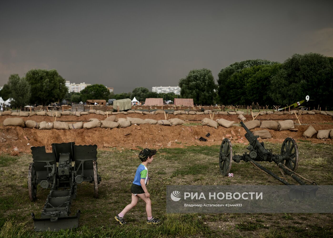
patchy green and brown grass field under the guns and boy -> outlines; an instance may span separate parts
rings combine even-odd
[[[279,153],[280,144],[266,143],[273,153]],[[312,145],[299,141],[299,167],[297,172],[320,185],[333,184],[333,146]],[[140,148],[138,148],[140,149]],[[233,144],[240,154],[246,151],[242,144]],[[162,223],[146,224],[145,204],[126,214],[126,226],[115,220],[131,202],[129,192],[137,166],[139,150],[111,148],[98,151],[98,169],[102,176],[99,198],[94,198],[94,185],[78,185],[72,212],[81,210],[79,228],[60,232],[34,232],[30,213],[37,218],[45,203],[48,190],[40,186],[37,200],[30,202],[27,187],[30,154],[16,157],[0,156],[0,237],[333,237],[332,214],[167,214],[166,186],[175,184],[280,185],[274,178],[258,171],[250,163],[233,163],[234,177],[224,177],[218,168],[219,146],[188,146],[186,148],[159,149],[149,165],[148,185],[153,215]],[[279,174],[273,163],[265,167]],[[292,182],[290,179],[288,179]]]

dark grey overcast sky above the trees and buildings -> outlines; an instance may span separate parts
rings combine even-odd
[[[0,86],[57,69],[115,93],[177,86],[192,69],[333,56],[333,1],[2,1]]]

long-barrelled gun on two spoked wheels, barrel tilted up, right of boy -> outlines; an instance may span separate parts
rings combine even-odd
[[[248,140],[249,145],[247,149],[250,151],[249,153],[244,153],[243,155],[232,154],[232,145],[229,139],[223,139],[219,152],[219,167],[221,174],[224,176],[228,176],[232,161],[239,163],[241,160],[245,162],[250,162],[258,169],[263,172],[271,175],[275,179],[279,180],[281,183],[289,186],[290,197],[293,199],[301,199],[301,198],[315,198],[316,191],[318,190],[318,186],[313,186],[313,188],[309,188],[312,186],[306,186],[307,189],[304,188],[295,189],[295,185],[288,183],[284,178],[277,176],[272,171],[263,167],[257,161],[267,161],[274,162],[279,167],[282,175],[287,174],[300,185],[317,185],[315,182],[310,181],[303,176],[299,175],[295,172],[298,166],[298,148],[296,141],[293,138],[286,138],[281,146],[280,154],[273,154],[271,149],[266,149],[264,146],[264,142],[259,142],[258,137],[253,135],[253,133],[245,126],[245,124],[241,121],[240,124],[246,131],[245,138]]]

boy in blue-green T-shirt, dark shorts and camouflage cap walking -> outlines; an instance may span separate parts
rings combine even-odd
[[[139,158],[142,163],[138,166],[135,173],[134,181],[131,186],[132,202],[128,204],[121,213],[115,216],[115,219],[121,224],[125,225],[125,214],[135,207],[138,203],[139,197],[146,202],[147,212],[147,224],[159,224],[161,220],[152,216],[152,202],[150,200],[150,194],[146,188],[148,182],[148,168],[147,165],[153,162],[153,157],[156,154],[156,150],[145,148],[140,151]]]

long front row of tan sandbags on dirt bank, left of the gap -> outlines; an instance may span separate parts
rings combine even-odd
[[[82,121],[76,123],[67,123],[64,121],[54,121],[54,122],[36,122],[34,120],[24,121],[22,118],[7,118],[4,120],[4,126],[21,126],[27,128],[38,128],[38,129],[91,129],[95,127],[102,128],[124,128],[130,125],[136,124],[158,124],[158,125],[181,125],[185,121],[173,118],[169,120],[153,120],[153,119],[141,119],[141,118],[117,118],[111,116],[105,120],[99,120],[96,118],[90,119],[89,122],[83,123]]]

